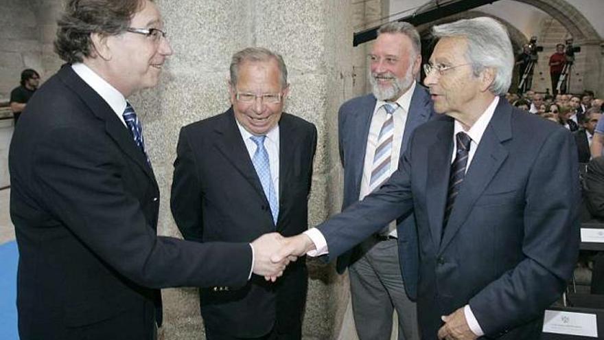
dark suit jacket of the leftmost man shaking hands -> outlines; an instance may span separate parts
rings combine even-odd
[[[25,111],[9,155],[22,340],[150,339],[154,315],[161,324],[158,288],[246,284],[245,242],[156,236],[152,169],[69,65]]]

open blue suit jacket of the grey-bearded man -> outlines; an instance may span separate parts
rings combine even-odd
[[[340,107],[338,113],[338,137],[340,141],[340,161],[344,168],[344,201],[342,209],[358,201],[363,167],[365,162],[365,151],[367,150],[367,138],[371,117],[375,109],[376,99],[372,94],[353,98]],[[405,131],[402,137],[400,157],[404,155],[409,138],[417,126],[428,122],[434,111],[430,95],[425,88],[416,84],[411,98],[409,112],[405,123]],[[407,295],[414,299],[417,296],[417,264],[419,253],[417,251],[417,229],[413,214],[407,218],[397,220],[397,235],[399,242],[399,262],[405,282]],[[347,251],[338,257],[336,269],[343,273],[345,269],[359,256],[358,247]]]

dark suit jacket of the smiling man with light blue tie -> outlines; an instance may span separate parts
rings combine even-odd
[[[250,242],[272,231],[294,236],[307,229],[316,128],[283,113],[279,138],[275,228],[233,110],[183,127],[174,161],[172,214],[187,240]],[[209,328],[234,337],[266,335],[275,322],[282,330],[297,329],[306,288],[305,259],[300,258],[275,283],[253,275],[241,289],[202,289],[201,314]]]

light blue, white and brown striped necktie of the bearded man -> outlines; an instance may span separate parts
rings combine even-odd
[[[389,170],[394,139],[393,113],[397,109],[396,105],[384,104],[382,106],[386,111],[386,121],[382,125],[380,135],[377,137],[377,148],[375,148],[375,155],[373,155],[373,167],[371,170],[371,179],[369,179],[369,192],[380,188],[391,174]]]

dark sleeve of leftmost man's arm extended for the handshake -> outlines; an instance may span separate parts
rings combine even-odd
[[[141,201],[124,187],[124,174],[141,170],[128,168],[134,163],[107,135],[63,126],[40,139],[32,187],[41,204],[109,267],[151,288],[246,284],[246,243],[203,245],[156,236]]]

